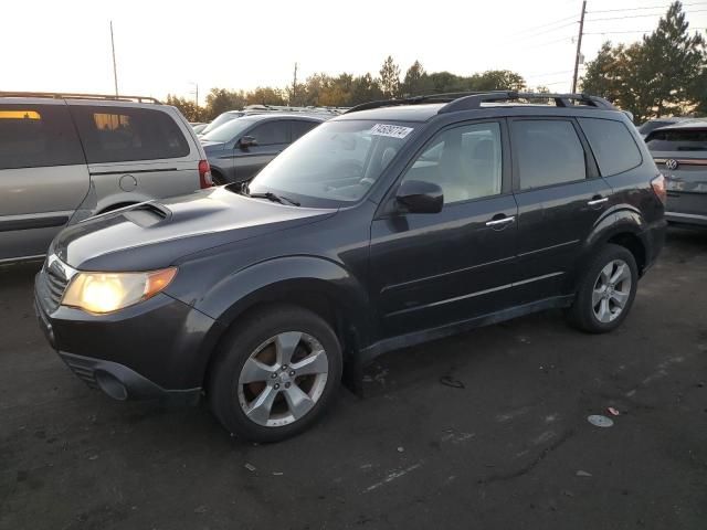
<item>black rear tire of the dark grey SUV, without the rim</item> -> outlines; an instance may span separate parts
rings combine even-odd
[[[629,298],[621,312],[613,320],[602,322],[594,312],[592,294],[602,269],[610,263],[619,259],[623,261],[629,266],[631,274],[631,289]],[[636,266],[636,261],[633,257],[633,254],[623,246],[606,244],[590,262],[580,278],[577,296],[574,297],[572,307],[570,307],[567,312],[569,322],[576,328],[589,333],[606,333],[609,331],[613,331],[621,326],[621,322],[623,322],[629,315],[629,311],[633,306],[633,300],[636,296],[637,285],[639,267]]]

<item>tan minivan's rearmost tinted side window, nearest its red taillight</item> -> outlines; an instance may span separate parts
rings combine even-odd
[[[73,106],[89,163],[161,160],[189,155],[175,120],[160,110]]]

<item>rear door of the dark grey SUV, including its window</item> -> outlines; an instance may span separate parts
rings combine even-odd
[[[518,202],[517,301],[560,295],[612,189],[571,118],[513,118]]]

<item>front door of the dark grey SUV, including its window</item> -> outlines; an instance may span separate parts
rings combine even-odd
[[[503,123],[457,125],[409,166],[402,180],[439,184],[444,205],[440,213],[395,212],[372,223],[370,296],[383,337],[510,304],[517,206],[506,146]]]

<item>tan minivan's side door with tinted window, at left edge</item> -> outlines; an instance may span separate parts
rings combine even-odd
[[[44,255],[88,186],[63,102],[0,103],[0,262]]]

